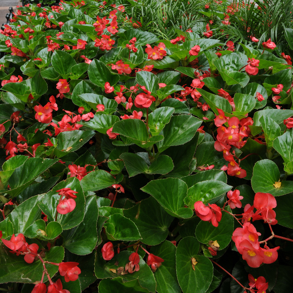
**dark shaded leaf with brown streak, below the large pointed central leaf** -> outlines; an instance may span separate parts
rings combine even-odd
[[[126,218],[134,222],[141,234],[141,241],[146,245],[157,245],[164,241],[174,219],[151,196],[123,212]]]

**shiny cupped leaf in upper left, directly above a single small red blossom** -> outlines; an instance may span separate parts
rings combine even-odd
[[[93,84],[97,84],[103,89],[105,83],[110,83],[111,86],[119,82],[119,75],[111,73],[107,66],[97,59],[94,59],[88,66],[88,77]]]

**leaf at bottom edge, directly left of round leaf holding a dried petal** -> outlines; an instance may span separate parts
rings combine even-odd
[[[152,246],[151,253],[164,259],[160,269],[154,272],[158,293],[181,293],[176,277],[176,247],[165,240],[160,245]]]

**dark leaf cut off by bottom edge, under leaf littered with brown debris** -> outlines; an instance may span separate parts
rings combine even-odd
[[[99,293],[148,293],[143,289],[138,280],[123,283],[122,278],[104,279],[99,283]]]

